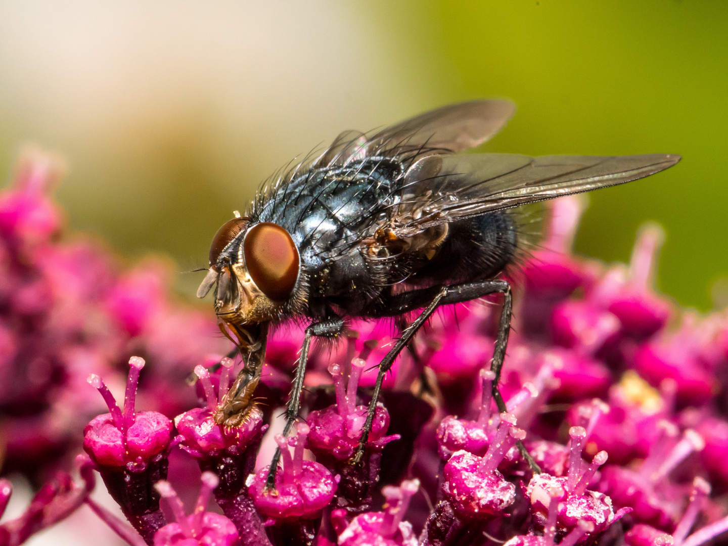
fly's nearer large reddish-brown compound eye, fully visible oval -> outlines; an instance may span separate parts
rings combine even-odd
[[[243,243],[250,277],[274,301],[288,299],[298,279],[298,250],[285,229],[275,223],[258,223]]]

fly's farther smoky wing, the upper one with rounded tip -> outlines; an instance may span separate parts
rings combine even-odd
[[[371,137],[344,131],[314,162],[335,167],[366,157],[422,157],[456,154],[480,146],[503,127],[515,106],[507,100],[472,100],[451,104],[387,127]]]

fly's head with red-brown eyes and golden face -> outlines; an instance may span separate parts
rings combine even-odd
[[[221,330],[241,349],[255,351],[263,325],[285,317],[301,292],[300,271],[298,248],[285,229],[233,218],[213,238],[210,270],[197,297],[215,286]]]

